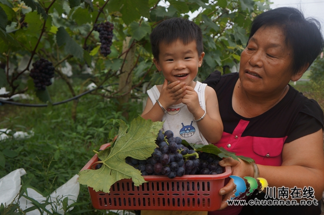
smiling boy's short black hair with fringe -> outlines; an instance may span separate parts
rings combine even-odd
[[[153,57],[158,61],[159,44],[171,44],[180,39],[183,44],[195,40],[198,55],[204,52],[203,34],[201,29],[194,22],[183,18],[171,18],[158,24],[150,34]]]

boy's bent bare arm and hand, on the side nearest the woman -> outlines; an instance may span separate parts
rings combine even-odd
[[[182,102],[186,102],[188,110],[193,114],[194,119],[198,120],[204,115],[205,111],[200,107],[198,101],[194,101],[197,100],[195,97],[198,97],[198,95],[194,95],[196,95],[194,89],[187,87],[187,94],[182,98]],[[204,119],[197,121],[197,124],[201,134],[209,142],[216,143],[222,137],[223,123],[219,113],[217,95],[211,87],[207,86],[205,89],[205,100],[206,116]]]

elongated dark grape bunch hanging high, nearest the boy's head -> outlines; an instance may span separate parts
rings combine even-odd
[[[99,32],[100,38],[100,52],[103,56],[107,56],[111,53],[110,46],[112,45],[113,37],[113,24],[110,22],[101,22],[100,24],[94,24],[94,30]]]

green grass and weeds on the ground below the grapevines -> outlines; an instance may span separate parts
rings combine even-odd
[[[61,80],[55,81],[49,92],[53,102],[71,97]],[[42,103],[33,99],[19,102]],[[140,114],[142,104],[128,105],[132,109],[131,121]],[[29,139],[10,138],[1,142],[0,153],[5,155],[6,163],[5,167],[0,166],[0,178],[17,168],[24,168],[27,173],[22,176],[24,186],[32,186],[43,195],[49,195],[82,169],[94,155],[92,150],[98,150],[117,135],[117,119],[129,123],[117,110],[113,99],[107,101],[89,94],[81,97],[76,121],[71,118],[71,108],[72,102],[43,108],[0,106],[0,128],[34,133]],[[69,214],[88,210],[83,214],[94,213],[86,186],[80,185],[77,201],[83,204],[75,206]]]

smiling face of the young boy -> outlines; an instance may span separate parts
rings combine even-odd
[[[177,39],[169,45],[162,42],[159,45],[158,60],[154,58],[153,61],[158,71],[162,71],[168,81],[185,81],[186,85],[194,87],[192,81],[197,76],[198,67],[201,66],[204,56],[204,52],[198,55],[196,41],[184,45]]]

